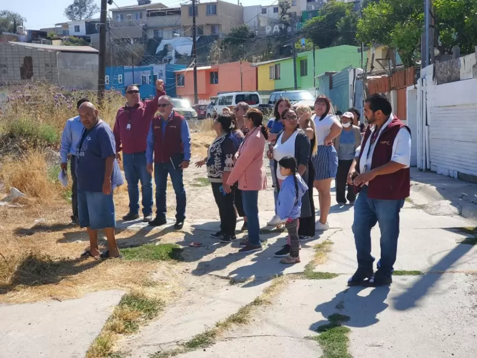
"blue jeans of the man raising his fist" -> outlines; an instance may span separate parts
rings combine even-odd
[[[143,214],[152,214],[152,175],[146,170],[146,152],[123,154],[124,175],[127,181],[129,195],[129,212],[139,214],[139,182],[141,181],[141,194],[143,196]]]

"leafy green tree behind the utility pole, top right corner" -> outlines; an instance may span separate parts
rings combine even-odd
[[[439,54],[451,53],[459,45],[462,53],[474,51],[477,24],[469,14],[477,13],[477,0],[434,0],[434,47]],[[370,2],[358,22],[357,38],[367,45],[380,44],[396,49],[404,66],[420,58],[424,31],[421,0],[381,0]]]

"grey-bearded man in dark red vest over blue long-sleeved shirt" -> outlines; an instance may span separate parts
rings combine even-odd
[[[190,162],[190,132],[186,119],[173,111],[172,99],[161,96],[158,102],[159,115],[151,122],[147,137],[147,170],[152,173],[154,157],[154,181],[156,183],[156,217],[149,222],[151,226],[167,223],[165,214],[167,176],[171,176],[176,193],[176,230],[182,229],[186,218],[186,191],[183,170]]]

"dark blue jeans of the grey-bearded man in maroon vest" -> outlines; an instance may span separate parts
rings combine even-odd
[[[171,176],[172,186],[176,193],[176,220],[186,218],[186,190],[184,189],[182,169],[174,169],[171,163],[154,163],[154,181],[156,182],[157,216],[165,218],[167,212],[166,190],[167,175]]]

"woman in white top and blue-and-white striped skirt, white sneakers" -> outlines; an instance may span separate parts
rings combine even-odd
[[[343,126],[336,116],[330,113],[331,102],[327,96],[321,95],[315,101],[313,120],[316,127],[318,142],[315,160],[315,187],[318,190],[320,204],[320,221],[316,224],[317,231],[328,230],[328,214],[331,206],[331,180],[336,177],[338,156],[333,146],[333,140],[340,135]]]

